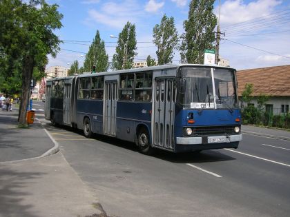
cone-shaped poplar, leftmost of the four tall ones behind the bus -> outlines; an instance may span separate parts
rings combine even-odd
[[[95,39],[88,49],[88,54],[86,54],[86,59],[84,61],[84,69],[86,72],[92,71],[93,65],[96,66],[96,72],[106,72],[109,66],[105,41],[101,40],[99,30],[97,30]]]

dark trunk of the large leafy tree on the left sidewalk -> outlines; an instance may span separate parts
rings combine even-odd
[[[27,125],[26,123],[26,108],[29,103],[30,96],[30,83],[32,72],[34,68],[33,57],[26,55],[23,57],[23,71],[22,71],[22,93],[21,93],[21,106],[19,109],[19,125]]]

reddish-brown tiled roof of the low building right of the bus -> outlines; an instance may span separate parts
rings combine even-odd
[[[237,71],[238,95],[242,96],[246,83],[253,84],[253,96],[290,96],[290,65]]]

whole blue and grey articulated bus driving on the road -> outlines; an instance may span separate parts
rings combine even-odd
[[[160,65],[46,82],[46,119],[171,152],[237,148],[242,141],[236,72]]]

